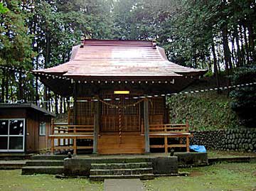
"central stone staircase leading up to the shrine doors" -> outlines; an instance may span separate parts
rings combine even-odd
[[[141,180],[154,179],[152,163],[92,163],[90,181],[100,182],[105,179],[139,178]]]

